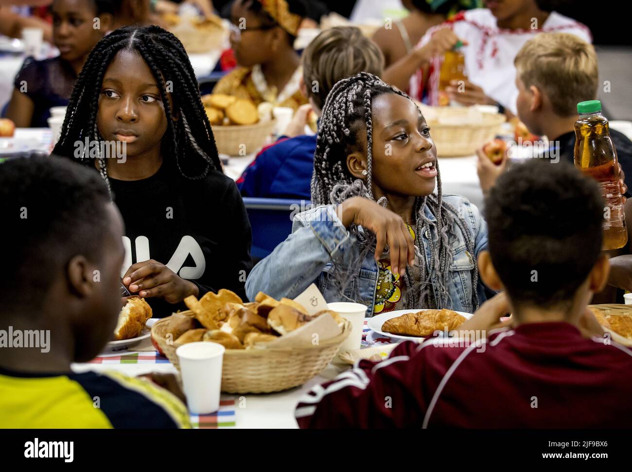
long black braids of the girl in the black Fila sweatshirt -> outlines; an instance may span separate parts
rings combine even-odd
[[[119,28],[95,45],[75,82],[53,153],[71,157],[77,141],[83,142],[86,138],[88,143],[97,141],[99,172],[109,188],[106,157],[100,154],[102,137],[97,129],[97,112],[104,74],[121,50],[137,51],[147,62],[161,90],[167,118],[167,131],[161,142],[162,155],[174,158],[179,172],[188,179],[204,179],[212,169],[221,172],[213,132],[185,48],[173,34],[157,26]],[[167,84],[173,86],[167,90]],[[173,109],[167,91],[171,93]],[[179,118],[178,121],[173,121],[174,116]],[[94,165],[88,148],[78,161]]]

